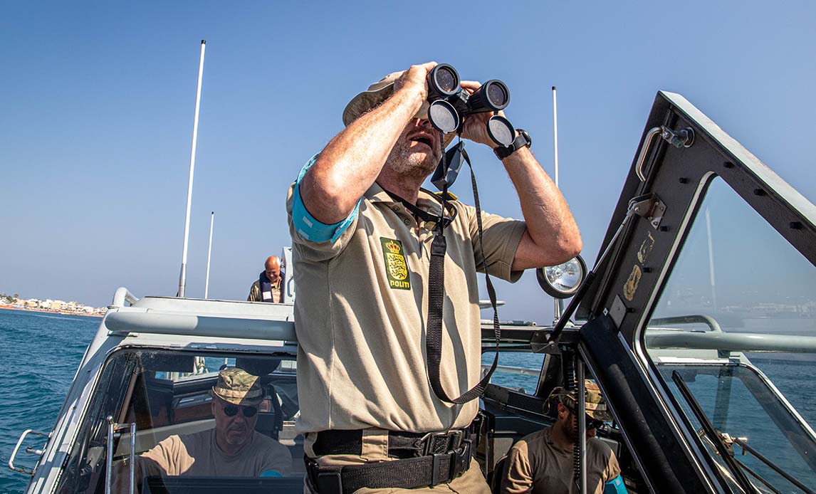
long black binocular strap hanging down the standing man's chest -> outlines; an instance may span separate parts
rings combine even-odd
[[[442,139],[441,139],[442,140]],[[499,338],[501,337],[501,329],[499,328],[499,313],[496,310],[496,291],[493,288],[493,282],[490,281],[490,275],[487,274],[487,259],[485,255],[485,247],[482,244],[481,233],[481,207],[479,205],[479,192],[476,186],[476,174],[473,172],[473,166],[470,163],[468,152],[462,148],[462,157],[468,163],[470,168],[470,178],[473,186],[473,201],[476,204],[476,221],[479,232],[479,249],[481,249],[482,268],[485,271],[485,280],[487,284],[487,294],[490,296],[490,305],[493,306],[493,331],[496,337],[496,354],[493,358],[493,364],[490,365],[490,370],[487,371],[485,377],[467,390],[458,398],[450,398],[442,387],[440,380],[440,368],[442,360],[442,307],[445,301],[445,253],[447,250],[447,243],[445,240],[445,228],[443,222],[437,223],[434,228],[433,242],[431,244],[431,262],[430,271],[428,273],[428,324],[425,333],[425,351],[428,354],[428,380],[431,383],[433,393],[437,395],[438,399],[451,404],[466,404],[472,399],[477,399],[485,388],[490,383],[490,377],[496,370],[496,364],[499,363]],[[445,149],[442,149],[442,159],[445,159]],[[443,168],[447,173],[447,164],[443,162]],[[445,214],[447,205],[448,187],[442,189],[442,214]],[[481,333],[481,328],[480,328]],[[481,336],[480,336],[481,339]]]

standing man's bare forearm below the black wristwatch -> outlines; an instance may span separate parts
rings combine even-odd
[[[579,254],[582,244],[578,225],[564,196],[530,149],[521,148],[502,162],[516,187],[531,240],[522,240],[513,269],[552,266]]]

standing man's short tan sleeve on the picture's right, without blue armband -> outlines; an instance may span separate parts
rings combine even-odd
[[[481,211],[481,245],[484,246],[484,257],[482,257],[476,208],[470,205],[462,205],[462,207],[465,208],[466,214],[468,214],[468,227],[473,243],[473,255],[476,259],[477,270],[484,271],[482,266],[482,259],[484,258],[487,263],[488,274],[512,283],[518,281],[524,271],[512,271],[512,262],[516,258],[516,250],[519,243],[521,243],[521,237],[527,231],[526,223]]]

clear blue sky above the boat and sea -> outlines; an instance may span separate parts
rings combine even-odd
[[[243,299],[289,245],[286,188],[348,99],[427,60],[506,82],[550,173],[558,86],[561,189],[589,262],[657,90],[814,201],[814,25],[813,2],[3,2],[0,292],[175,294],[201,39],[187,293],[203,294],[215,210],[210,294]],[[492,152],[469,150],[485,209],[520,216]],[[503,319],[551,317],[532,274],[498,290]]]

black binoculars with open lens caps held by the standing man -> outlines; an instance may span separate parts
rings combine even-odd
[[[438,64],[428,73],[428,120],[444,134],[461,130],[468,115],[499,112],[510,104],[508,86],[498,79],[490,79],[472,94],[462,90],[459,82],[459,73],[449,64]],[[487,134],[501,146],[516,139],[511,123],[498,114],[487,121]]]

